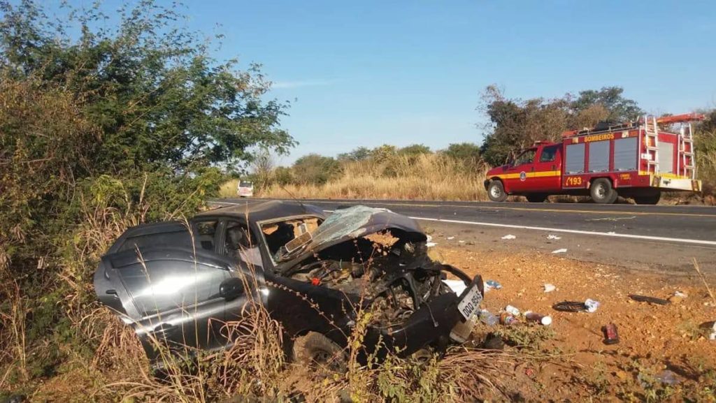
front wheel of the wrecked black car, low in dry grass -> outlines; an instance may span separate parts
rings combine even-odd
[[[306,368],[342,372],[346,369],[343,349],[323,334],[311,331],[294,340],[293,360]]]

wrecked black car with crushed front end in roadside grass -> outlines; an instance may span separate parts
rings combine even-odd
[[[251,301],[281,324],[294,358],[307,345],[309,355],[344,349],[366,309],[368,353],[440,351],[469,334],[483,281],[432,261],[426,239],[390,210],[358,205],[326,216],[311,205],[253,200],[187,223],[130,228],[102,257],[95,291],[134,327],[150,359],[156,339],[228,346],[222,327]],[[460,296],[442,281],[448,273],[465,283]]]

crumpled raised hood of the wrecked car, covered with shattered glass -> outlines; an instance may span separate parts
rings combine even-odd
[[[412,218],[393,213],[385,208],[355,205],[351,208],[335,210],[314,231],[311,241],[301,249],[299,255],[282,261],[279,266],[294,266],[326,248],[384,230],[400,230],[405,233],[407,241],[410,242],[425,242],[427,240],[420,225]]]

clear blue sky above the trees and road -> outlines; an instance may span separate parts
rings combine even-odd
[[[560,97],[619,85],[649,112],[716,107],[716,1],[188,1],[217,57],[263,64],[281,162],[364,145],[481,142],[480,92]],[[217,25],[218,24],[218,25]],[[295,100],[294,100],[295,99]]]

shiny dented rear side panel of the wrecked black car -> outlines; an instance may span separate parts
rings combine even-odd
[[[231,262],[213,253],[125,251],[102,258],[95,289],[103,302],[107,296],[121,302],[120,311],[135,327],[147,355],[155,359],[158,344],[180,350],[226,344],[221,334],[226,299],[220,288],[229,277]]]

